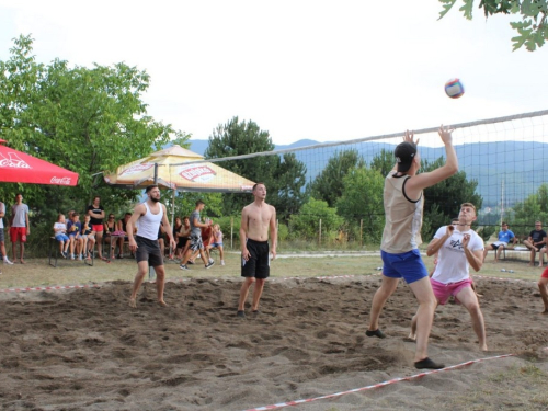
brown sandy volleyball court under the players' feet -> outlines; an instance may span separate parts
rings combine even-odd
[[[150,283],[137,309],[127,306],[129,282],[1,294],[1,409],[247,410],[415,375],[406,336],[416,304],[407,286],[383,313],[387,339],[364,335],[379,282],[273,279],[262,312],[243,320],[236,317],[239,279],[169,283],[167,308],[155,302]],[[490,352],[478,350],[468,312],[447,305],[436,312],[431,357],[456,365],[516,356],[288,409],[430,410],[444,401],[454,410],[546,409],[544,398],[524,404],[515,393],[520,384],[535,389],[520,383],[524,369],[544,381],[548,373],[548,317],[539,313],[535,283],[477,283]],[[513,389],[478,391],[501,375],[517,378]]]

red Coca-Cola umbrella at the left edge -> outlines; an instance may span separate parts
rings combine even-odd
[[[78,174],[25,152],[3,146],[0,139],[0,181],[52,185],[77,185]]]

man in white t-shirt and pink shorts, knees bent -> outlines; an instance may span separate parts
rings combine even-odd
[[[480,271],[483,264],[483,240],[470,228],[477,218],[476,207],[464,203],[458,214],[458,225],[444,226],[437,230],[426,249],[426,254],[438,253],[437,265],[431,277],[437,304],[445,305],[449,296],[470,312],[472,328],[479,340],[479,347],[487,351],[486,324],[478,297],[472,289],[470,265]],[[416,316],[411,321],[410,339],[415,339]]]

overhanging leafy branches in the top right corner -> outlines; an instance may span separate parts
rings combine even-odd
[[[457,0],[439,0],[443,3],[443,11],[439,19],[449,12]],[[459,9],[466,19],[472,19],[473,0],[463,0],[464,5]],[[520,14],[521,22],[512,22],[510,25],[517,32],[517,36],[512,37],[513,49],[516,50],[523,45],[529,52],[534,52],[537,46],[543,47],[548,39],[548,1],[547,0],[481,0],[479,8],[483,9],[483,14],[489,18],[493,14]]]

